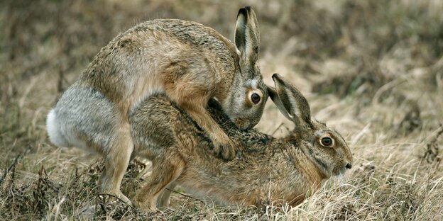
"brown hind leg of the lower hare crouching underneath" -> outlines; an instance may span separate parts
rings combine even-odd
[[[153,160],[153,170],[143,188],[137,193],[133,203],[145,211],[156,210],[158,197],[182,174],[185,169],[185,162],[180,156],[158,156]],[[168,194],[168,193],[163,193]],[[170,194],[170,193],[169,193]],[[163,198],[163,196],[162,196]]]

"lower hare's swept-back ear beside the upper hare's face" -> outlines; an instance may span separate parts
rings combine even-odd
[[[292,120],[296,125],[300,122],[307,123],[311,125],[311,111],[310,106],[307,103],[305,96],[295,87],[290,84],[290,82],[285,81],[280,77],[279,74],[273,74],[273,80],[275,84],[275,94],[278,94],[280,98],[280,104],[274,103],[281,111],[280,106],[282,106],[285,111],[290,115]],[[272,92],[270,93],[272,94]],[[283,111],[282,111],[283,112]],[[283,113],[285,115],[285,113]]]

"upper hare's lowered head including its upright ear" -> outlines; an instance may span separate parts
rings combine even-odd
[[[229,99],[224,102],[224,111],[242,130],[252,128],[261,118],[268,99],[257,64],[260,50],[260,33],[256,13],[251,7],[240,8],[237,15],[234,42],[239,55],[236,77]]]

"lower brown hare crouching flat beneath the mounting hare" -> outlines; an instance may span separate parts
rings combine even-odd
[[[168,98],[143,101],[129,121],[134,154],[150,159],[153,170],[133,203],[143,210],[168,206],[170,191],[165,188],[180,185],[224,205],[275,200],[297,205],[322,181],[350,169],[352,154],[341,135],[311,118],[306,98],[288,81],[278,74],[273,80],[270,98],[295,123],[287,137],[238,130],[217,102],[209,103],[212,117],[238,145],[239,152],[230,162],[207,151],[211,142],[205,133]]]

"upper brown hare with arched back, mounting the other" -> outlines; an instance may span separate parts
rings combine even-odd
[[[199,23],[173,19],[147,21],[116,36],[48,114],[51,142],[101,154],[103,191],[128,202],[120,191],[133,152],[128,114],[148,96],[164,93],[202,128],[215,154],[233,159],[234,142],[206,106],[217,99],[242,130],[261,118],[268,94],[256,62],[258,23],[250,7],[239,10],[234,42]]]

